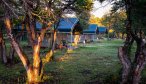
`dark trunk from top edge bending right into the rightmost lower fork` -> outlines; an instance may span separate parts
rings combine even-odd
[[[142,33],[139,32],[140,37],[135,35],[131,29],[131,16],[132,16],[132,3],[134,3],[134,0],[125,0],[125,5],[126,5],[126,13],[127,13],[127,25],[126,25],[126,31],[129,32],[131,37],[137,42],[137,50],[135,53],[135,58],[134,61],[132,62],[132,68],[131,68],[131,75],[129,78],[132,84],[139,84],[140,78],[141,78],[141,71],[144,68],[144,65],[146,63],[146,46],[145,43],[142,41],[141,35]]]

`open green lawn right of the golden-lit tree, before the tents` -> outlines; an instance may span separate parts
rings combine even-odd
[[[55,58],[61,61],[49,63],[46,70],[53,72],[57,83],[61,84],[115,82],[120,70],[117,49],[122,44],[122,40],[98,41],[81,45],[70,54],[57,52]]]

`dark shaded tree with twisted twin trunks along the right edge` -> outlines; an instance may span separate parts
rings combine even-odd
[[[120,0],[121,1],[121,0]],[[146,63],[146,53],[145,53],[145,42],[142,37],[143,25],[142,18],[145,18],[143,15],[145,1],[144,0],[122,0],[125,4],[127,20],[126,20],[126,42],[123,47],[119,48],[119,58],[123,66],[122,70],[122,84],[132,83],[138,84],[141,78],[141,72],[144,69]],[[139,7],[140,6],[140,7]],[[142,19],[144,20],[144,19]],[[137,24],[137,21],[140,21]],[[136,26],[137,25],[137,26]],[[135,28],[135,26],[138,28]],[[139,26],[139,27],[138,27]],[[142,28],[143,27],[143,28]],[[137,43],[137,49],[134,56],[134,60],[130,59],[130,50],[133,41]]]

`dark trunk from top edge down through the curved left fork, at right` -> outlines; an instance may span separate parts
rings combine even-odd
[[[129,77],[132,69],[132,62],[130,59],[131,45],[133,43],[132,36],[130,34],[131,30],[131,0],[124,0],[127,13],[127,23],[126,23],[126,41],[123,47],[118,50],[118,56],[122,64],[122,81],[121,84],[128,84]]]

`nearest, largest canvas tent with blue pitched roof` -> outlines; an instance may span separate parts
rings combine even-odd
[[[74,42],[75,36],[80,36],[82,28],[78,18],[61,18],[57,27],[58,44],[62,41]]]

